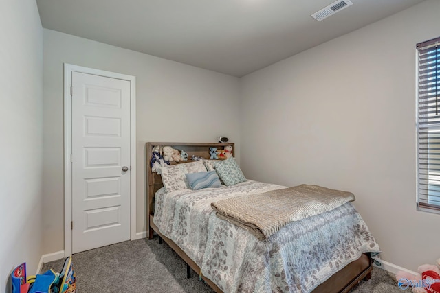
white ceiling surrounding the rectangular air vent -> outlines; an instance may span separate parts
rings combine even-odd
[[[423,0],[36,0],[43,27],[241,77]]]

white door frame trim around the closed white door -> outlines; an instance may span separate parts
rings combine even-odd
[[[64,257],[72,255],[72,71],[130,82],[130,239],[136,239],[136,78],[64,63]]]

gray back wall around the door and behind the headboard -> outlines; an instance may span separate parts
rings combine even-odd
[[[63,62],[136,77],[136,231],[146,231],[147,141],[217,142],[240,148],[239,79],[52,30],[44,35],[44,253],[64,248]],[[239,156],[239,152],[236,152]]]

